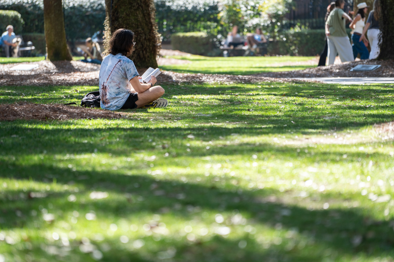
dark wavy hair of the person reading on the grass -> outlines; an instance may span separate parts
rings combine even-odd
[[[121,53],[122,55],[130,56],[135,50],[133,40],[133,31],[120,28],[112,33],[108,52],[113,55]]]

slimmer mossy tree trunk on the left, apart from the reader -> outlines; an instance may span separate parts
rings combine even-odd
[[[44,0],[44,28],[48,59],[71,61],[72,55],[67,46],[61,0]]]

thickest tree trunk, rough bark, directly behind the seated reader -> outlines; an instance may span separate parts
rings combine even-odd
[[[106,20],[104,46],[108,50],[111,34],[119,28],[134,32],[136,50],[129,57],[139,68],[157,67],[160,50],[156,9],[153,0],[105,0]]]

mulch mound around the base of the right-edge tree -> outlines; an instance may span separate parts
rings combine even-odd
[[[350,69],[357,65],[381,65],[381,67],[370,72],[351,72]],[[354,62],[345,62],[339,65],[319,66],[305,70],[271,72],[256,74],[262,77],[394,77],[394,60],[366,59]]]

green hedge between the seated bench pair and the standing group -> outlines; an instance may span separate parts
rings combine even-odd
[[[348,29],[350,37],[350,30]],[[267,48],[268,55],[320,55],[325,45],[324,29],[284,31],[270,42]]]

